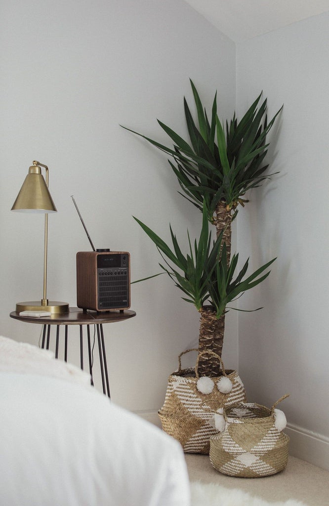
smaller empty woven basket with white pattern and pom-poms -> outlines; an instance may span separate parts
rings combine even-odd
[[[282,471],[288,460],[289,437],[282,432],[285,416],[275,408],[286,397],[271,409],[253,403],[225,407],[225,429],[210,439],[212,466],[225,475],[243,478]]]

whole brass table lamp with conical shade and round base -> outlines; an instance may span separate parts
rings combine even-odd
[[[46,181],[41,173],[41,167],[46,169]],[[47,299],[47,243],[48,243],[48,213],[56,213],[57,209],[48,189],[49,170],[47,165],[33,161],[28,175],[17,195],[12,211],[23,213],[45,213],[45,248],[44,248],[44,296],[41,301],[18,302],[16,311],[48,311],[50,313],[67,313],[69,305],[66,302],[49,301]]]

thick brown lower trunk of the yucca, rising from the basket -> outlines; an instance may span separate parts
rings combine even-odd
[[[222,357],[224,339],[225,313],[216,318],[213,306],[203,306],[200,316],[200,333],[198,353],[210,350]],[[199,360],[198,373],[200,376],[218,376],[220,362],[211,355],[203,355]]]

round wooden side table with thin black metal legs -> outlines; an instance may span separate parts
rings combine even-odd
[[[106,353],[104,345],[104,334],[103,334],[103,323],[113,323],[116,321],[127,320],[136,315],[135,311],[130,309],[122,310],[111,310],[105,313],[98,313],[92,310],[83,310],[79,308],[69,308],[68,313],[52,314],[50,316],[33,317],[33,316],[19,316],[19,313],[12,311],[10,313],[11,318],[16,320],[24,321],[26,323],[37,323],[44,325],[42,348],[49,349],[50,341],[50,329],[52,325],[56,325],[56,351],[55,358],[58,358],[58,345],[59,345],[59,329],[61,325],[65,327],[65,345],[64,345],[64,360],[67,361],[67,334],[69,325],[79,325],[80,327],[80,367],[84,369],[84,352],[83,352],[83,327],[87,326],[87,339],[88,339],[88,358],[89,358],[89,371],[91,375],[91,384],[93,382],[93,364],[92,364],[92,349],[90,342],[90,325],[96,325],[97,329],[97,340],[99,350],[99,362],[102,375],[102,386],[103,393],[110,397],[110,388],[108,382],[108,372],[106,363]],[[47,340],[46,340],[47,333]],[[105,389],[106,387],[106,389]]]

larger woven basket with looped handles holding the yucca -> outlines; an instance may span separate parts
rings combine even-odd
[[[179,355],[178,371],[169,376],[165,403],[158,414],[163,431],[177,439],[184,452],[208,455],[210,437],[217,433],[214,412],[224,405],[245,401],[245,391],[237,372],[234,370],[225,372],[221,358],[214,352],[199,353],[194,369],[182,369],[181,357],[189,351],[198,350],[186,350]],[[218,377],[211,378],[214,389],[209,394],[202,394],[197,389],[198,363],[200,357],[205,354],[215,356],[222,367]],[[221,393],[216,386],[222,377],[228,377],[233,385],[227,394]]]

